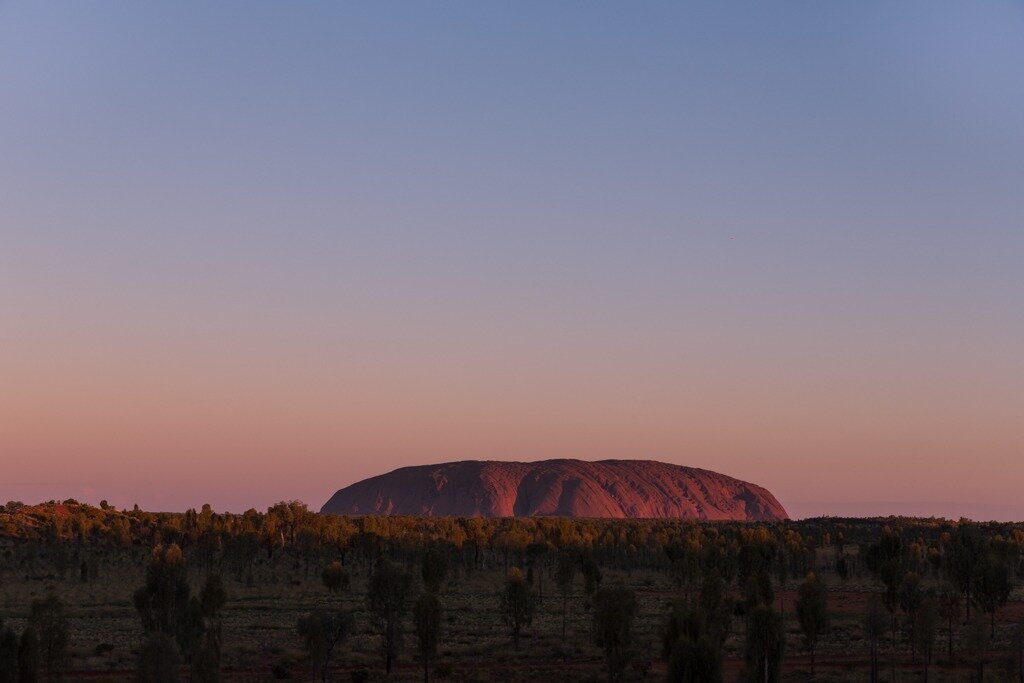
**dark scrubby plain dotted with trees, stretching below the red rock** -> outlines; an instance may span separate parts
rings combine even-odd
[[[0,509],[0,683],[1022,681],[1024,524]]]

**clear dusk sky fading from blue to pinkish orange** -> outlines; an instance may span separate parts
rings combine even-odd
[[[645,458],[1024,519],[1024,4],[0,2],[0,501]]]

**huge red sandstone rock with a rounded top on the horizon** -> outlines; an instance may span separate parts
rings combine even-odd
[[[761,486],[651,460],[467,460],[403,467],[331,497],[321,512],[456,517],[681,517],[778,520]]]

